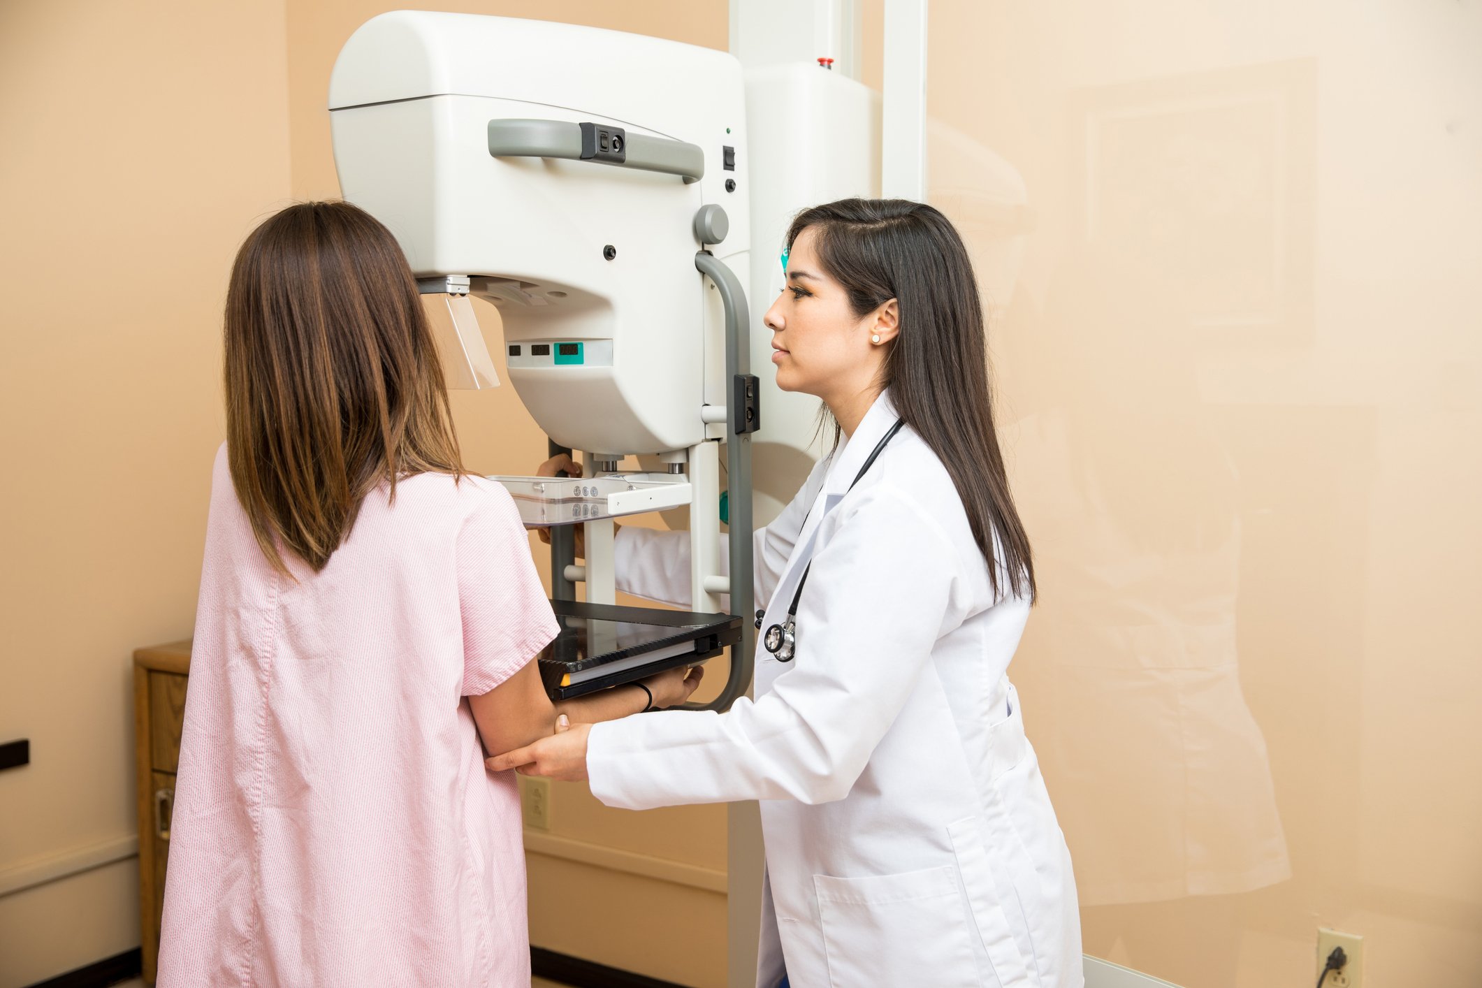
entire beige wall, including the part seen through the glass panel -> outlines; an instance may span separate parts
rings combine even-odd
[[[336,191],[329,68],[381,9],[0,4],[0,877],[133,831],[129,653],[193,624],[231,253]],[[725,44],[722,0],[456,9]],[[1479,18],[932,4],[931,113],[1034,209],[993,338],[1042,581],[1014,675],[1091,952],[1309,984],[1328,924],[1375,988],[1482,981]],[[513,390],[455,412],[477,470],[544,453]],[[723,810],[551,804],[535,942],[719,984]],[[133,947],[133,881],[0,898],[0,987]]]

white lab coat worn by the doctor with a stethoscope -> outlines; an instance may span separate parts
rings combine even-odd
[[[1029,604],[994,601],[941,461],[895,422],[854,437],[757,532],[763,627],[803,569],[797,658],[756,650],[756,699],[596,724],[609,806],[762,800],[757,985],[1079,988],[1070,855],[1005,671]],[[805,523],[806,515],[806,523]],[[622,529],[618,585],[688,606],[688,536]],[[759,635],[760,638],[760,635]]]

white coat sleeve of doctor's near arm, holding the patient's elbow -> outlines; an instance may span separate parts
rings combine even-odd
[[[931,662],[969,610],[962,557],[926,513],[879,486],[814,555],[796,668],[725,714],[665,711],[596,724],[587,770],[608,806],[849,794]]]

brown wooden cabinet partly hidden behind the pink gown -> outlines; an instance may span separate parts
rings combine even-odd
[[[165,864],[170,855],[175,772],[185,721],[190,641],[133,653],[135,781],[139,797],[139,932],[144,981],[154,982],[165,909]]]

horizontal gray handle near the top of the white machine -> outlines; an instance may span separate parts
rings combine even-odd
[[[600,132],[603,142],[593,139]],[[617,147],[611,141],[617,139]],[[679,175],[685,184],[705,176],[705,153],[698,144],[628,133],[612,124],[569,120],[491,120],[489,154],[496,158],[563,158],[614,167]]]

